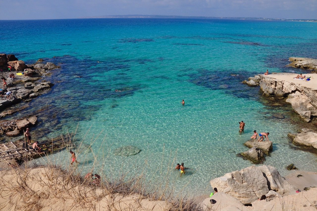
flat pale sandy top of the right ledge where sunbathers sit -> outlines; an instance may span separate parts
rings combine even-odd
[[[302,74],[303,76],[306,75],[307,77],[311,77],[310,81],[294,79],[297,73],[276,73],[276,74],[269,74],[269,75],[261,75],[264,78],[275,78],[280,81],[288,81],[290,83],[300,84],[301,86],[305,86],[307,88],[311,88],[313,90],[317,90],[317,74],[316,73],[309,73],[309,74]]]

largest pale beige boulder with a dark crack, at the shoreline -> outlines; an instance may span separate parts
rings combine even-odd
[[[270,190],[281,195],[295,192],[295,188],[284,180],[274,167],[266,165],[250,166],[241,171],[227,173],[210,180],[210,185],[243,204],[251,204]]]

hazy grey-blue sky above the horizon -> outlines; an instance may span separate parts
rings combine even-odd
[[[0,20],[132,14],[317,19],[317,0],[0,0]]]

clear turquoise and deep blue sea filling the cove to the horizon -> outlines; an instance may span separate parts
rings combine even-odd
[[[167,182],[176,193],[209,194],[211,179],[251,165],[236,154],[248,149],[243,143],[253,130],[269,132],[273,141],[264,164],[282,175],[288,174],[285,166],[290,163],[317,171],[317,156],[289,143],[287,134],[298,129],[292,109],[268,106],[258,87],[240,83],[267,69],[302,71],[285,65],[288,57],[316,57],[316,23],[0,21],[0,42],[1,52],[26,63],[44,58],[61,65],[47,76],[55,84],[51,92],[33,99],[16,116],[46,105],[54,108],[36,127],[49,138],[77,128],[76,139],[83,146],[93,142],[91,149],[75,150],[84,172],[95,165],[94,172],[107,177],[143,174],[148,184]],[[275,114],[285,119],[270,118]],[[246,123],[242,135],[241,120]],[[129,157],[113,154],[126,145],[142,151]],[[50,158],[69,165],[67,151]],[[173,168],[181,162],[194,170],[179,178]]]

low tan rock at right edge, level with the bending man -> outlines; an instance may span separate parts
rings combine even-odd
[[[303,128],[301,133],[288,133],[288,137],[293,139],[294,145],[317,149],[317,133],[314,130]]]

